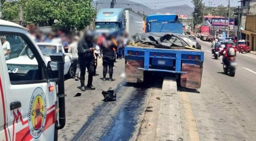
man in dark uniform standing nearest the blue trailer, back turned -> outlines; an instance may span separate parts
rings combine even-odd
[[[117,48],[116,42],[110,37],[106,37],[106,41],[102,45],[103,53],[103,81],[106,81],[107,70],[109,73],[109,81],[114,81],[113,76],[113,67],[115,62],[115,52],[114,49]],[[108,67],[108,69],[107,69]]]

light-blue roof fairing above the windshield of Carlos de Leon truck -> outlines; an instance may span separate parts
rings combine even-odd
[[[122,8],[103,8],[97,13],[95,21],[118,22],[123,19],[122,15]]]

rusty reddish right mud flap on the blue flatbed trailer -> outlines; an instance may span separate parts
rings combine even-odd
[[[182,63],[182,71],[188,73],[181,74],[180,85],[182,87],[198,89],[201,87],[202,80],[202,65],[193,65]]]

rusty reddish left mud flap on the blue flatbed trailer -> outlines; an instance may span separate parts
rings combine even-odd
[[[126,60],[125,63],[125,73],[126,82],[140,83],[143,82],[143,70],[138,68],[143,68],[144,62],[142,60]]]

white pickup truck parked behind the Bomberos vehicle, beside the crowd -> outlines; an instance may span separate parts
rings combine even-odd
[[[49,55],[51,54],[55,54],[58,52],[65,53],[64,48],[60,43],[37,43],[37,45],[40,48],[40,51],[42,52],[46,62],[51,61],[49,57]],[[8,65],[22,65],[24,62],[29,65],[37,65],[37,61],[35,58],[30,59],[26,55],[25,48],[21,51],[18,57],[9,59],[6,62]],[[65,53],[64,75],[67,75],[68,78],[71,78],[73,76],[72,55],[70,53]]]

